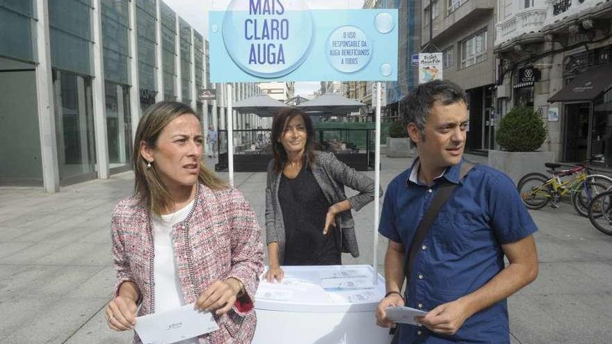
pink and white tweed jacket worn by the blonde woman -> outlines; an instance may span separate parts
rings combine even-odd
[[[117,273],[115,295],[124,281],[140,288],[138,316],[155,309],[154,243],[150,209],[138,199],[123,199],[111,222],[113,260]],[[231,188],[212,190],[198,183],[195,202],[187,218],[172,229],[172,245],[184,301],[191,304],[217,279],[239,279],[246,294],[232,310],[215,316],[219,329],[200,337],[200,343],[250,343],[255,333],[252,309],[264,261],[255,213],[243,195]],[[134,343],[141,343],[134,335]]]

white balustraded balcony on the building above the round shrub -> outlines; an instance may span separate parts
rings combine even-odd
[[[520,37],[525,33],[540,31],[548,15],[547,7],[524,8],[515,15],[495,25],[495,46]]]

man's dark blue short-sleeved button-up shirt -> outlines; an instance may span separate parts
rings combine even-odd
[[[410,271],[407,305],[430,311],[484,286],[504,269],[501,245],[525,238],[537,227],[506,174],[476,165],[459,180],[460,165],[456,165],[427,186],[417,180],[415,164],[389,183],[378,231],[402,243],[408,259],[417,226],[437,188],[444,181],[458,184],[419,247]],[[426,327],[400,328],[400,343],[458,342],[510,343],[506,300],[468,318],[454,336],[435,334]]]

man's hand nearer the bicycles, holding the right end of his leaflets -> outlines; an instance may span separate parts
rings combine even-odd
[[[417,317],[425,327],[438,334],[456,334],[463,325],[463,322],[471,314],[461,300],[455,300],[446,304],[440,304],[429,311],[425,316]]]

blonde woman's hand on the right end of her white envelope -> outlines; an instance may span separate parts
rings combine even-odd
[[[242,290],[241,281],[232,277],[225,281],[214,281],[204,293],[198,297],[195,306],[202,311],[215,311],[220,316],[232,309],[236,303],[236,297]]]

